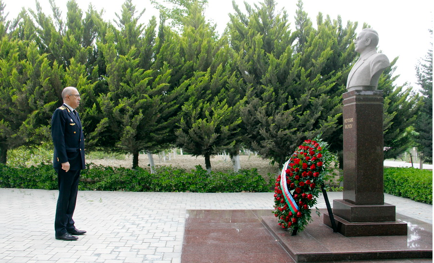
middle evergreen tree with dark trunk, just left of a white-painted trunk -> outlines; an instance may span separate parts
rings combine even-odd
[[[190,85],[176,132],[177,143],[192,155],[203,156],[211,172],[211,156],[233,148],[240,139],[238,112],[242,102],[229,86],[226,37],[217,38],[215,27],[205,22],[198,2],[188,8],[190,15],[182,20],[180,54]]]

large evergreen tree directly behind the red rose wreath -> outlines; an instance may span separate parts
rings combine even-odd
[[[245,5],[247,15],[234,2],[229,30],[246,90],[246,144],[282,165],[303,140],[318,134],[329,140],[341,128],[343,76],[354,53],[333,48],[351,46],[355,26],[342,28],[340,20],[323,21],[320,14],[315,30],[299,1],[291,33],[287,13],[276,12],[273,0],[255,9]]]

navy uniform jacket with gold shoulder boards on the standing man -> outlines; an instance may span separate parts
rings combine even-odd
[[[78,112],[74,115],[66,105],[58,107],[51,119],[51,136],[54,169],[62,168],[64,162],[70,163],[72,171],[85,169],[84,135]]]

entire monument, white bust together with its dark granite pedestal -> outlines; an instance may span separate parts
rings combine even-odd
[[[380,75],[389,59],[377,53],[378,33],[363,29],[354,41],[360,57],[343,94],[344,193],[333,200],[338,231],[344,236],[407,235],[407,224],[396,221],[395,206],[384,203],[383,91]],[[328,215],[324,223],[331,226]]]

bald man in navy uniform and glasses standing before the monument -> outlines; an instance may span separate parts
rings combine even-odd
[[[83,235],[84,230],[74,226],[72,214],[77,200],[80,171],[85,168],[84,136],[80,117],[75,108],[80,105],[77,88],[62,91],[63,105],[57,108],[51,119],[51,135],[54,143],[53,167],[57,172],[59,197],[54,220],[55,238],[77,240],[73,235]]]

